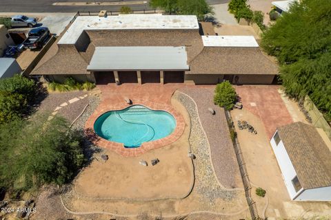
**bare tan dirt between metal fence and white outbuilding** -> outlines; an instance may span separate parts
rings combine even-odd
[[[282,108],[290,108],[289,113],[293,120],[295,118],[294,121],[305,122],[304,116],[293,100],[288,100]],[[231,115],[236,126],[250,181],[254,188],[261,187],[267,192],[265,198],[259,198],[254,195],[254,190],[252,191],[254,200],[257,201],[260,216],[283,219],[331,214],[330,202],[290,200],[277,159],[269,144],[269,134],[265,131],[263,120],[254,114],[254,111],[244,107],[241,110],[231,111]],[[257,130],[257,135],[249,133],[246,129],[239,130],[237,120],[246,120]]]

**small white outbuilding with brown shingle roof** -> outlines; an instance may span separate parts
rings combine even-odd
[[[270,140],[292,200],[331,201],[331,142],[323,130],[295,122]]]

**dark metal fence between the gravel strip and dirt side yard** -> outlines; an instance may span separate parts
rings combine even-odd
[[[234,129],[234,123],[232,121],[231,115],[229,111],[225,111],[226,119],[228,120],[228,125],[230,129]],[[259,217],[259,212],[257,212],[257,203],[252,199],[252,186],[250,184],[250,179],[248,177],[248,172],[245,165],[245,159],[243,159],[243,152],[241,151],[241,147],[237,137],[234,137],[233,141],[234,152],[237,157],[237,162],[239,164],[239,170],[241,174],[241,179],[243,180],[243,188],[245,189],[245,197],[248,203],[248,207],[250,208],[250,215],[254,220],[261,220]]]

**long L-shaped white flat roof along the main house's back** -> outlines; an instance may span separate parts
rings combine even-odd
[[[121,14],[79,16],[58,44],[76,43],[83,30],[199,30],[195,15]]]

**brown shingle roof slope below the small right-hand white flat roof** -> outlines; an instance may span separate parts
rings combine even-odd
[[[188,74],[278,74],[259,47],[204,47]]]

